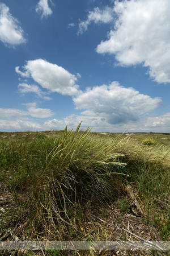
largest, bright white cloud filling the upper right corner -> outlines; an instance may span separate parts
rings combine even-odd
[[[98,53],[114,54],[118,64],[142,63],[156,82],[170,82],[170,1],[115,2],[117,21]]]

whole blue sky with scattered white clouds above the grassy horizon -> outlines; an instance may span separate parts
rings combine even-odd
[[[170,131],[169,0],[0,0],[0,131]]]

